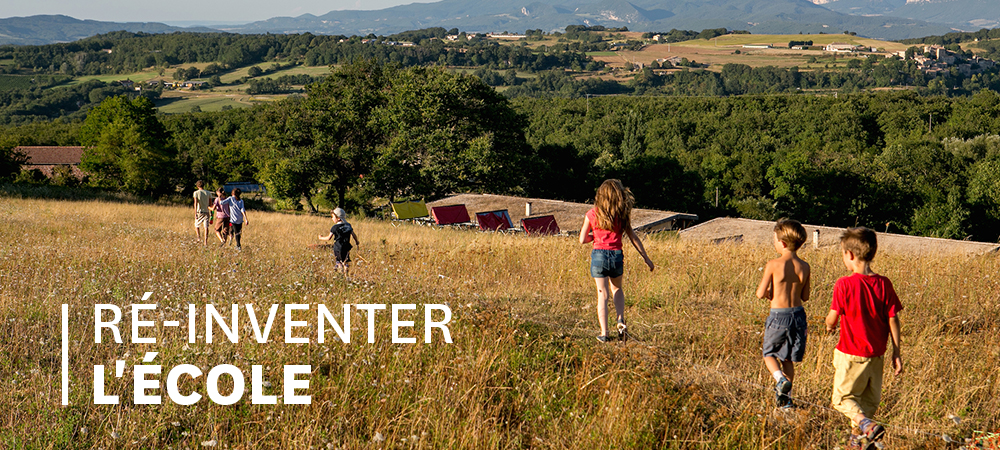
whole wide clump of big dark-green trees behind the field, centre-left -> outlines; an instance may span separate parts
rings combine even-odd
[[[262,116],[272,192],[331,190],[343,206],[351,191],[391,199],[520,185],[524,119],[478,77],[360,60],[307,89]]]

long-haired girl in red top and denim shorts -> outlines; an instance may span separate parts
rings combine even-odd
[[[580,243],[593,242],[590,252],[590,276],[597,284],[597,321],[601,326],[601,334],[597,340],[608,342],[608,299],[615,304],[615,315],[618,319],[618,338],[623,342],[628,339],[625,322],[625,293],[622,291],[624,274],[624,254],[622,253],[622,237],[628,236],[636,251],[642,255],[649,270],[653,270],[653,261],[646,255],[642,241],[632,229],[632,207],[635,199],[632,191],[622,186],[615,179],[605,180],[597,188],[594,207],[587,211],[580,229]]]

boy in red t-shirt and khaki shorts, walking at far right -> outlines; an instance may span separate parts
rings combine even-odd
[[[837,280],[826,330],[840,321],[840,342],[833,351],[833,407],[853,425],[851,444],[873,448],[885,429],[871,420],[882,398],[882,368],[886,341],[892,338],[892,367],[903,373],[899,354],[899,317],[903,305],[892,282],[871,269],[878,241],[875,232],[848,228],[840,237],[844,265],[850,276]],[[841,320],[843,319],[843,320]]]

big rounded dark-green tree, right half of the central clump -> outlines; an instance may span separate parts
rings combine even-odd
[[[526,122],[476,77],[408,69],[392,78],[375,117],[385,143],[366,186],[376,195],[505,193],[521,185]]]

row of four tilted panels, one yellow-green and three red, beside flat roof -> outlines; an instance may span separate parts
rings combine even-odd
[[[397,220],[433,220],[436,225],[474,226],[465,205],[432,206],[427,211],[423,201],[393,202],[392,215]],[[476,213],[476,223],[482,231],[516,231],[506,209]],[[525,217],[521,219],[521,231],[528,235],[559,234],[559,225],[552,215]]]

